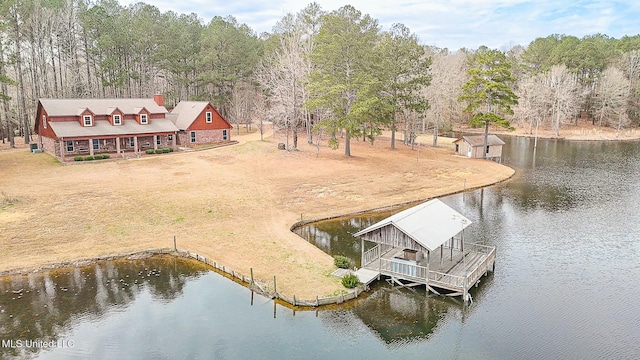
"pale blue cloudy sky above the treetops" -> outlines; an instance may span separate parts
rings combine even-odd
[[[123,5],[137,1],[118,0]],[[162,12],[196,13],[208,23],[233,15],[256,33],[270,32],[286,13],[310,1],[294,0],[147,0]],[[640,1],[623,0],[317,0],[323,10],[346,4],[378,19],[383,30],[402,23],[426,45],[457,50],[481,45],[505,49],[528,45],[538,37],[596,33],[614,38],[640,34]]]

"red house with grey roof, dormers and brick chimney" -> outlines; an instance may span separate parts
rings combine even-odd
[[[189,107],[193,103],[200,112]],[[151,99],[40,99],[35,133],[38,147],[61,161],[102,153],[138,156],[147,149],[175,150],[178,145],[229,141],[231,125],[210,103],[181,102],[174,111],[167,111],[163,95]]]

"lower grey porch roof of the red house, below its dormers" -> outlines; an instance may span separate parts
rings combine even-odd
[[[82,126],[77,121],[51,121],[49,126],[51,126],[58,138],[132,136],[178,131],[169,119],[153,119],[146,125],[140,125],[135,120],[124,120],[122,125],[117,126],[111,125],[107,120],[94,121],[93,126]]]

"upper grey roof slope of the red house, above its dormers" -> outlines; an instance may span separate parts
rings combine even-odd
[[[115,108],[124,114],[138,114],[142,108],[152,114],[166,114],[153,99],[40,99],[49,116],[75,116],[89,109],[95,115],[111,115]]]

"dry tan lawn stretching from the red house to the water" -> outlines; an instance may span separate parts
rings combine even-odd
[[[330,256],[289,231],[317,219],[483,186],[510,168],[419,152],[387,141],[300,151],[256,134],[234,146],[137,160],[61,165],[25,149],[0,152],[0,272],[178,247],[244,274],[278,278],[279,292],[313,299],[341,289]]]

